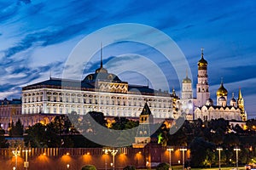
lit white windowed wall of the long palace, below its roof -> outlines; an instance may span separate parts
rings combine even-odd
[[[22,91],[22,114],[101,111],[105,116],[139,116],[143,105],[155,118],[170,118],[172,98],[142,94],[116,94],[56,88],[38,88]]]

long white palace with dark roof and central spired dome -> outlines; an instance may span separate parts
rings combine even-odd
[[[101,62],[100,68],[82,81],[49,78],[22,88],[22,114],[101,111],[105,116],[139,117],[147,102],[154,118],[175,119],[172,99],[166,91],[121,81]]]

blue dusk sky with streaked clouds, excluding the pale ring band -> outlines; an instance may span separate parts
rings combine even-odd
[[[150,26],[172,39],[186,59],[193,88],[201,48],[208,61],[211,98],[221,77],[224,87],[245,99],[249,118],[256,117],[256,2],[255,1],[0,1],[0,99],[20,98],[21,88],[51,77],[62,77],[75,47],[84,37],[106,26],[134,23]],[[117,29],[113,34],[118,34]],[[125,35],[130,35],[125,32]],[[151,37],[150,32],[144,35]],[[180,79],[173,63],[154,46],[142,42],[103,44],[103,63],[109,72],[131,84],[160,87],[159,74],[180,94]],[[162,42],[166,48],[170,47]],[[95,48],[90,44],[84,48]],[[173,54],[176,55],[173,51]],[[83,78],[100,65],[100,51],[85,63]],[[143,59],[143,60],[142,60]],[[146,60],[145,60],[146,59]],[[112,61],[112,62],[110,62]],[[143,63],[147,63],[143,65]],[[131,66],[132,65],[132,66]],[[160,68],[148,76],[151,66]],[[186,66],[187,67],[187,66]],[[136,71],[131,71],[131,69]],[[141,71],[141,72],[140,72]],[[190,72],[191,71],[191,72]],[[160,87],[162,88],[162,87]],[[166,89],[165,89],[166,90]],[[170,90],[170,89],[169,89]]]

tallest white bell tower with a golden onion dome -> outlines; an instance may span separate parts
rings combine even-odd
[[[204,59],[204,48],[201,48],[201,59],[198,61],[198,75],[196,84],[197,106],[205,105],[207,99],[210,99],[208,75],[207,75],[207,60]]]

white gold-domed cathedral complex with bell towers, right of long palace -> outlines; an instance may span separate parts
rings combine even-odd
[[[210,98],[207,66],[207,60],[204,59],[203,49],[201,49],[201,59],[198,61],[196,98],[192,98],[192,81],[187,74],[182,83],[182,96],[179,100],[180,109],[186,113],[187,119],[190,121],[196,119],[210,121],[224,118],[230,121],[245,122],[247,113],[244,109],[241,89],[238,92],[238,99],[235,99],[233,93],[229,102],[228,91],[224,88],[224,82],[221,81],[220,87],[216,92],[216,104],[214,105],[213,100]]]

